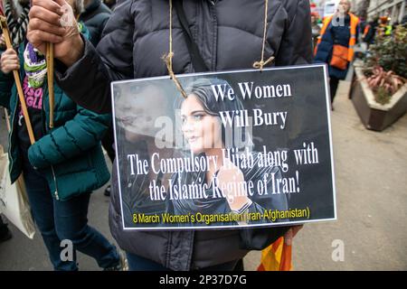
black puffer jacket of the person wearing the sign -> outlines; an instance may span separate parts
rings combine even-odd
[[[210,70],[251,68],[260,60],[264,0],[185,0],[185,14],[194,41]],[[175,73],[194,72],[185,36],[173,14]],[[265,59],[276,65],[311,61],[308,0],[269,1]],[[161,60],[168,51],[167,0],[127,0],[116,6],[95,50],[85,44],[84,56],[63,74],[62,89],[80,106],[110,111],[109,83],[166,75]],[[113,170],[116,172],[116,170]],[[189,270],[239,259],[248,249],[260,249],[287,228],[245,230],[124,231],[116,176],[109,208],[109,225],[118,245],[174,270]]]

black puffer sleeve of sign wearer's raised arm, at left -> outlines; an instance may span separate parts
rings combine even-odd
[[[118,5],[106,24],[98,48],[85,40],[82,58],[68,70],[55,67],[60,88],[77,104],[97,113],[111,112],[110,82],[133,77],[133,1]]]

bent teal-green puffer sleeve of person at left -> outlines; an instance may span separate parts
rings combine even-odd
[[[83,154],[99,143],[108,130],[110,121],[110,114],[98,115],[78,107],[75,117],[30,146],[30,163],[33,167],[43,169]]]

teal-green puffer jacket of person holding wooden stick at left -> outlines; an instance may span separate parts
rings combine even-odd
[[[24,45],[20,46],[20,79],[24,79]],[[67,200],[82,192],[93,191],[109,181],[109,170],[100,139],[109,128],[111,115],[98,115],[76,105],[54,83],[54,128],[49,128],[48,85],[43,84],[43,137],[28,150],[30,163],[47,179],[52,195]],[[0,105],[10,109],[9,159],[11,181],[22,172],[18,147],[18,95],[13,73],[0,71]]]

